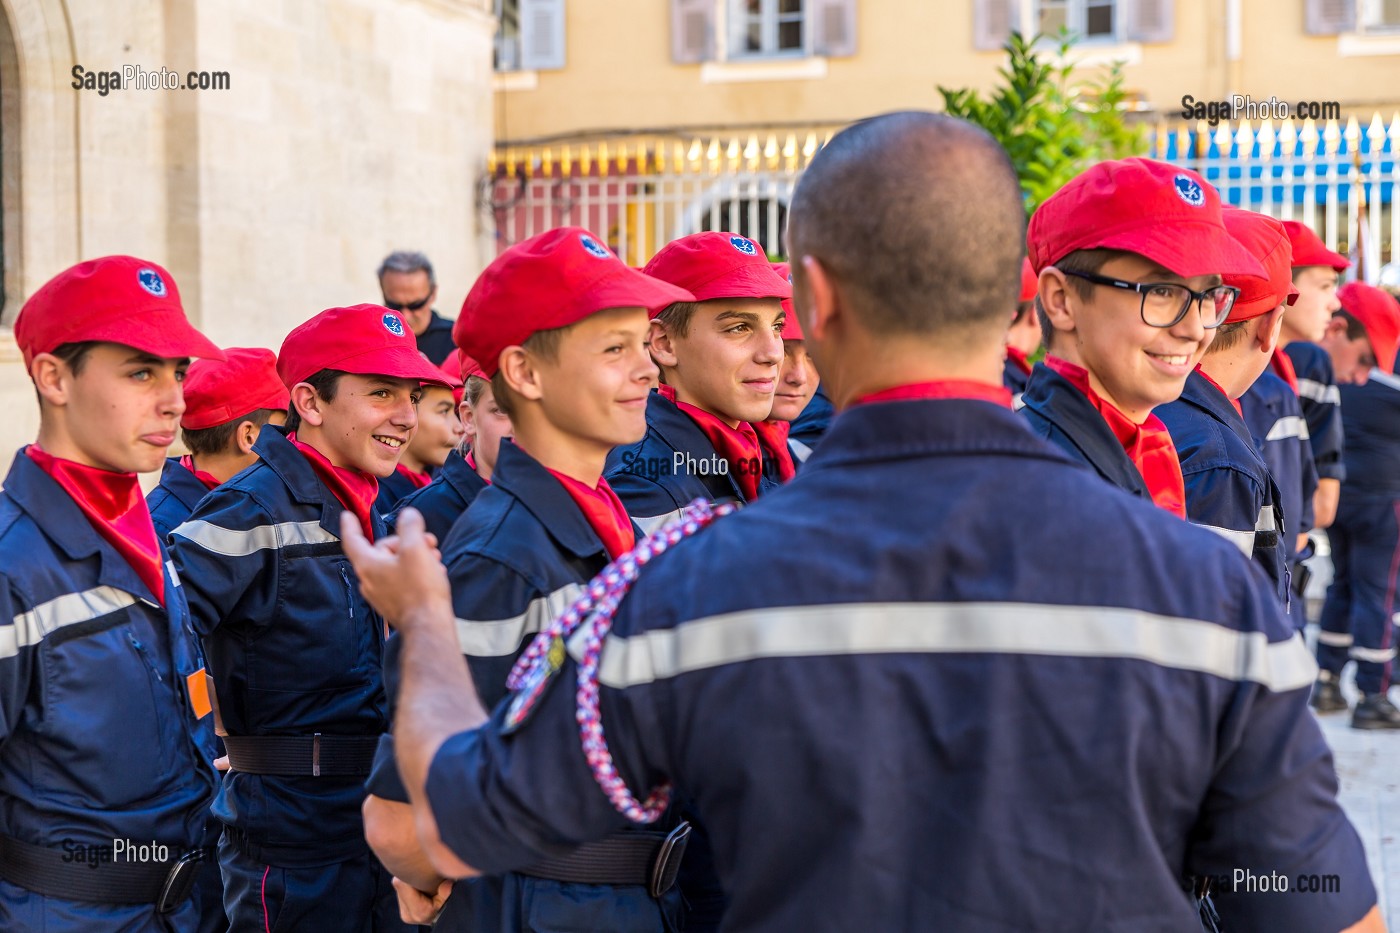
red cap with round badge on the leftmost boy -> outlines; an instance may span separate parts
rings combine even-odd
[[[136,256],[102,256],[71,266],[35,291],[14,322],[24,366],[64,343],[104,340],[167,360],[224,352],[185,317],[175,279]]]

